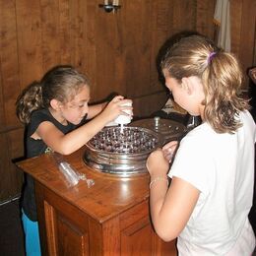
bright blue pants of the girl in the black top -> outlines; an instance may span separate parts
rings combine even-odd
[[[38,223],[32,222],[23,212],[22,216],[24,232],[25,232],[25,246],[27,256],[40,256],[40,240]]]

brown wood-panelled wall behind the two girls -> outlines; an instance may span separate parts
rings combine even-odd
[[[72,64],[91,79],[93,101],[116,92],[134,99],[135,115],[147,116],[167,98],[156,64],[164,41],[182,31],[214,34],[215,0],[120,0],[116,13],[98,8],[102,2],[0,0],[0,202],[21,190],[23,175],[11,161],[23,156],[15,101],[32,81],[54,65]],[[255,16],[246,12],[253,16],[255,1],[231,3],[232,46],[251,66]],[[247,26],[254,26],[249,41]]]

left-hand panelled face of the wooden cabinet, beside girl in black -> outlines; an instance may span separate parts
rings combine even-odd
[[[89,217],[35,182],[42,255],[90,255]]]

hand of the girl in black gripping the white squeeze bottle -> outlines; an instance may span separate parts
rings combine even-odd
[[[127,103],[132,103],[131,99],[124,99],[123,96],[115,96],[104,108],[101,116],[106,119],[107,122],[113,121],[118,115],[133,115],[133,107],[131,105],[125,105]],[[129,110],[131,114],[125,112]]]

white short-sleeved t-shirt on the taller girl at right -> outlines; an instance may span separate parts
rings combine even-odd
[[[234,134],[218,134],[203,123],[180,142],[168,175],[189,182],[201,193],[178,237],[179,255],[225,255],[247,222],[253,198],[256,127],[248,111],[239,118],[243,126]],[[255,243],[253,231],[249,235]]]

